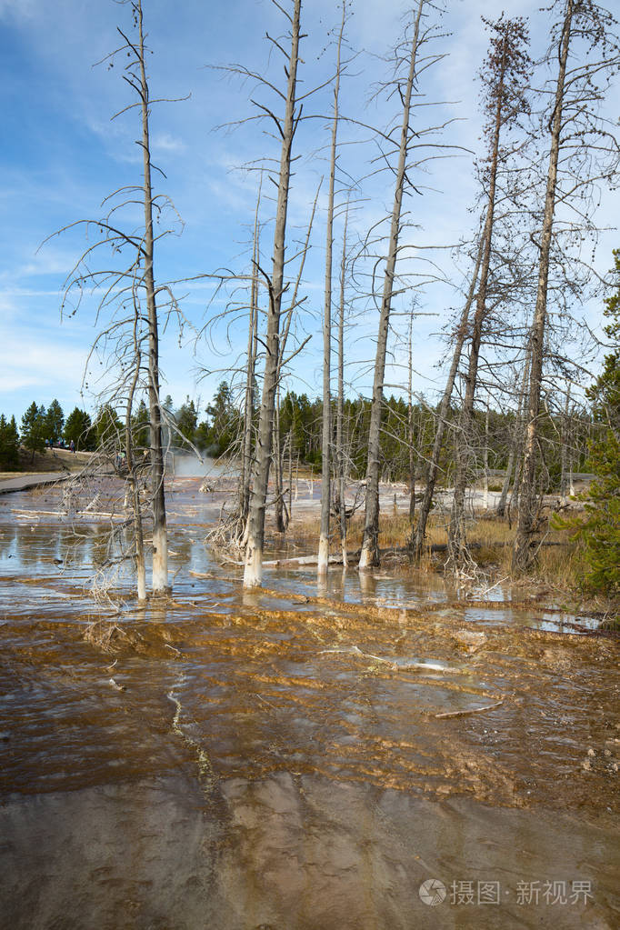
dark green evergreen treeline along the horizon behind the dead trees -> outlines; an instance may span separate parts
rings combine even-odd
[[[385,400],[381,426],[380,465],[385,481],[408,482],[410,475],[409,448],[413,445],[414,477],[425,472],[435,436],[437,410],[423,402],[412,405],[411,414],[407,401],[391,396]],[[213,402],[205,408],[205,419],[199,421],[199,411],[189,398],[175,408],[172,398],[164,402],[166,416],[165,445],[195,446],[212,456],[234,456],[241,444],[243,414],[233,399],[227,381],[218,386]],[[256,412],[256,416],[258,413]],[[304,465],[321,467],[321,430],[323,402],[319,398],[310,400],[306,393],[289,391],[284,394],[276,411],[279,442],[276,453],[283,459],[283,466],[290,458]],[[336,421],[333,411],[332,422]],[[455,469],[454,436],[457,429],[458,410],[448,414],[451,429],[443,445],[441,460],[442,483],[450,484]],[[363,398],[348,399],[344,403],[344,448],[347,471],[351,478],[364,477],[368,451],[368,427],[370,401]],[[492,474],[507,468],[510,448],[514,444],[515,414],[496,410],[478,410],[475,415],[476,434],[472,437],[474,460],[479,472],[484,468]],[[149,411],[140,401],[131,418],[133,440],[136,449],[149,448]],[[591,437],[593,422],[583,416],[567,418],[544,415],[541,418],[540,436],[547,471],[547,486],[560,483],[562,457],[564,468],[573,472],[587,470],[587,440]],[[74,407],[67,419],[57,400],[50,405],[31,404],[21,418],[21,428],[15,418],[0,416],[0,469],[11,471],[20,468],[19,448],[22,445],[31,453],[42,452],[46,445],[57,445],[63,440],[66,445],[73,441],[77,450],[93,451],[106,445],[110,451],[123,448],[125,435],[124,418],[103,405],[94,419],[86,410]],[[410,443],[413,437],[413,443]],[[562,451],[563,450],[563,451]],[[500,481],[497,478],[497,481]]]

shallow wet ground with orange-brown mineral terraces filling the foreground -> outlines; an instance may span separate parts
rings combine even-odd
[[[120,614],[109,486],[0,498],[0,926],[617,926],[617,640],[408,566],[244,594],[199,484]]]

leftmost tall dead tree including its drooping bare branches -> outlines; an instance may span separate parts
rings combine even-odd
[[[120,188],[106,198],[103,206],[107,212],[99,219],[78,220],[60,232],[76,227],[86,228],[94,236],[94,242],[86,248],[67,276],[64,288],[62,312],[73,315],[85,297],[86,287],[99,291],[97,305],[98,320],[105,320],[95,339],[87,365],[102,356],[109,360],[109,370],[115,380],[108,389],[108,401],[125,407],[125,416],[131,419],[136,392],[144,391],[149,398],[150,430],[150,475],[152,513],[152,591],[155,594],[169,591],[167,572],[167,532],[165,523],[164,450],[162,445],[162,405],[160,402],[159,373],[159,317],[170,313],[181,316],[178,303],[168,285],[156,285],[154,273],[154,243],[162,236],[177,232],[179,219],[174,205],[168,197],[153,193],[152,159],[150,145],[150,113],[152,105],[161,100],[152,100],[146,71],[145,34],[140,0],[128,4],[133,19],[135,38],[118,29],[123,42],[102,62],[120,58],[124,64],[123,78],[138,100],[128,104],[112,119],[135,109],[140,113],[140,138],[137,140],[142,151],[142,172],[139,183]],[[143,221],[136,228],[136,209],[142,211]],[[172,224],[165,227],[165,221]],[[154,225],[158,224],[157,234]],[[128,229],[130,232],[126,232]],[[112,267],[104,271],[93,270],[92,259],[99,251],[108,250],[112,256]],[[120,269],[114,267],[118,258],[128,264]],[[146,365],[142,358],[146,355]],[[86,382],[86,387],[88,383]],[[133,461],[131,437],[127,432],[125,453]],[[129,469],[131,498],[139,507],[135,493],[137,481],[135,469]],[[142,514],[135,513],[137,540],[141,533]],[[139,541],[137,541],[139,545]],[[139,595],[144,595],[143,565],[138,553]]]

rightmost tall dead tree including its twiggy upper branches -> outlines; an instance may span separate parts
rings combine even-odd
[[[536,464],[539,450],[539,419],[545,363],[549,272],[554,236],[563,225],[567,235],[559,243],[560,263],[567,263],[570,240],[579,245],[584,228],[593,233],[594,186],[609,183],[618,168],[618,143],[614,127],[600,116],[600,104],[620,66],[617,22],[595,0],[555,0],[550,7],[553,24],[549,61],[557,62],[553,90],[543,88],[550,103],[544,113],[548,133],[547,180],[539,233],[538,282],[530,331],[531,367],[528,386],[527,425],[523,450],[519,517],[512,567],[516,572],[532,564],[533,543],[539,525]],[[558,222],[574,211],[574,222]]]

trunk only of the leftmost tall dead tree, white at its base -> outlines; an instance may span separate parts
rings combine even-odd
[[[151,146],[149,140],[149,85],[144,63],[144,33],[142,5],[134,5],[139,26],[139,73],[142,111],[142,157],[144,191],[144,287],[149,319],[149,414],[151,420],[151,472],[152,472],[152,590],[155,594],[170,591],[168,585],[168,536],[165,525],[164,452],[162,448],[162,409],[159,396],[159,328],[155,282],[153,276],[153,229]]]

